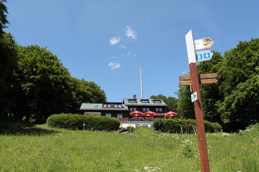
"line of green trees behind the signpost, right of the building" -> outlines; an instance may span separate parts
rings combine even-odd
[[[259,118],[259,39],[240,41],[223,56],[213,53],[211,60],[197,65],[199,74],[218,74],[216,84],[200,85],[204,119],[218,122],[224,131],[243,130]],[[180,86],[176,94],[178,99],[174,101],[164,95],[151,97],[165,101],[168,111],[195,119],[190,87]]]

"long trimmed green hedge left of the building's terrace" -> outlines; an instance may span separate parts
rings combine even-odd
[[[120,126],[119,120],[114,117],[81,114],[54,114],[47,119],[47,125],[71,130],[83,130],[84,121],[86,130],[113,131],[118,130]]]

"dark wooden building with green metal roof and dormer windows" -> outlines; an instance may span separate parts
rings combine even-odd
[[[118,118],[121,127],[143,126],[151,127],[157,118],[164,118],[167,104],[161,99],[137,99],[124,98],[123,102],[103,102],[103,103],[82,103],[80,110],[84,115],[99,115]],[[156,112],[154,117],[130,116],[130,112]]]

